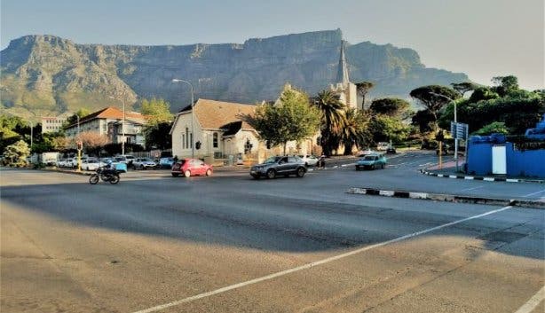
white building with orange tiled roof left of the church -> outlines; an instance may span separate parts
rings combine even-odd
[[[108,143],[122,143],[145,145],[142,128],[146,125],[146,117],[136,112],[124,113],[116,107],[108,106],[100,111],[83,116],[79,122],[68,125],[65,128],[67,137],[74,138],[84,131],[96,132],[99,135],[106,135]],[[124,130],[124,134],[123,134]]]

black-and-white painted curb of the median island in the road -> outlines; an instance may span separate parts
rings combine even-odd
[[[434,200],[455,203],[470,203],[470,204],[486,204],[493,206],[512,206],[512,207],[533,207],[545,209],[545,202],[531,200],[509,200],[495,199],[484,197],[462,196],[454,194],[430,193],[430,192],[407,192],[407,191],[391,191],[375,188],[359,188],[351,187],[346,193],[350,194],[365,194],[371,196],[383,196],[393,198],[419,199],[419,200]]]

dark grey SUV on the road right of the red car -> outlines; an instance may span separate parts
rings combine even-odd
[[[296,156],[273,156],[249,170],[249,175],[255,179],[259,179],[261,176],[272,179],[280,175],[303,177],[304,173],[306,173],[304,160]]]

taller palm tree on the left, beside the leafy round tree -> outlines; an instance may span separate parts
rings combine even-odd
[[[340,143],[344,128],[346,106],[341,102],[339,95],[331,90],[321,90],[313,104],[320,109],[321,116],[321,145],[323,153],[331,155]]]

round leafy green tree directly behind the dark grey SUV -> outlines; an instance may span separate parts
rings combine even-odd
[[[288,86],[282,90],[276,104],[263,104],[251,115],[242,115],[257,130],[262,140],[271,145],[283,145],[286,154],[288,141],[300,142],[312,137],[320,127],[320,111],[311,106],[308,96]]]

